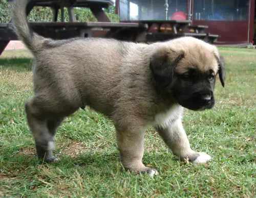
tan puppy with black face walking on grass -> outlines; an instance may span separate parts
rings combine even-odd
[[[26,0],[13,5],[18,37],[34,55],[34,96],[26,115],[37,156],[55,161],[53,138],[61,121],[86,105],[110,117],[126,169],[157,174],[142,163],[144,130],[153,125],[180,159],[206,163],[210,156],[190,148],[183,108],[210,109],[225,62],[217,47],[193,37],[151,45],[102,38],[52,40],[32,32]]]

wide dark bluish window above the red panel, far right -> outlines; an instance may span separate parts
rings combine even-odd
[[[249,0],[196,0],[194,20],[248,20]]]

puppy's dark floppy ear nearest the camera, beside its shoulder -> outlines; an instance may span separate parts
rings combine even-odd
[[[162,87],[172,83],[174,68],[184,58],[184,53],[171,53],[158,51],[150,59],[153,78]]]

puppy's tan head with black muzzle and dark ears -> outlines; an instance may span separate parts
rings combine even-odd
[[[178,38],[159,45],[151,56],[150,68],[158,87],[191,110],[214,106],[217,74],[224,87],[224,58],[217,47],[193,37]]]

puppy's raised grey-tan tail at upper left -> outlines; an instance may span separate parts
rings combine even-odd
[[[42,47],[44,37],[30,29],[26,15],[27,3],[28,0],[16,0],[12,3],[12,20],[18,38],[35,54]]]

